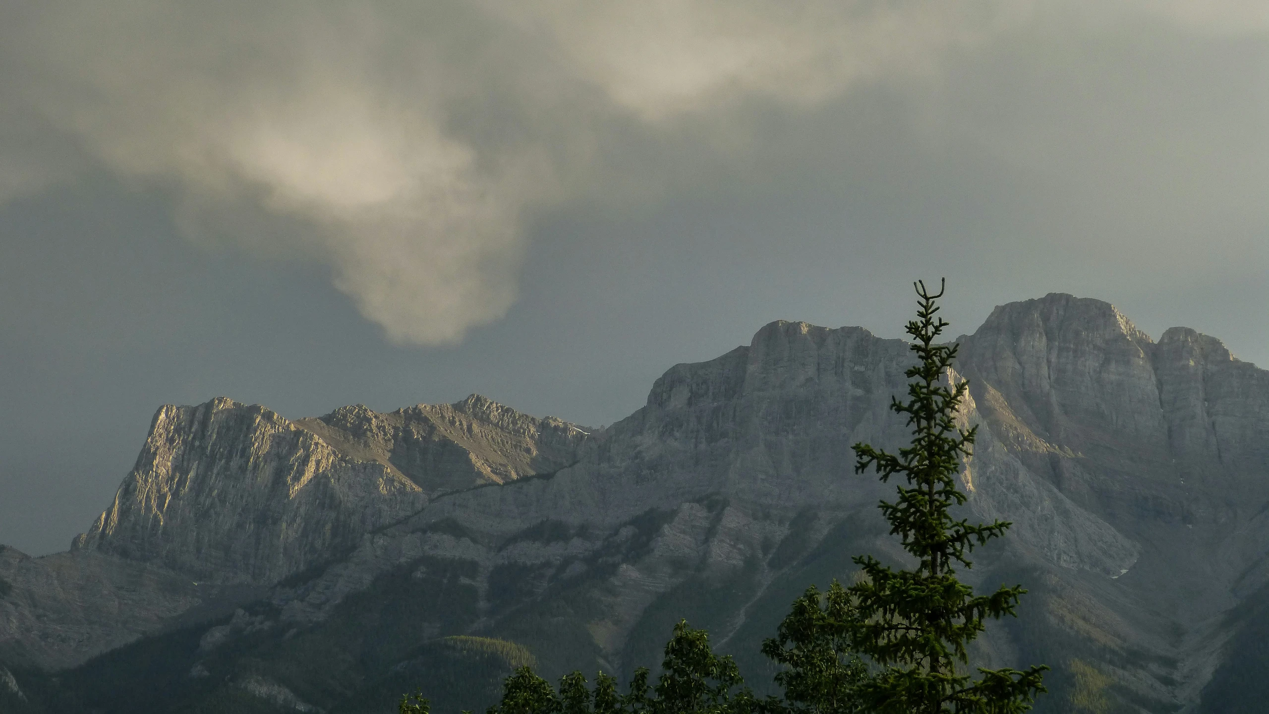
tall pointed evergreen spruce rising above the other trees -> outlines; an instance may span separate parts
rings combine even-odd
[[[972,454],[976,428],[956,426],[954,415],[968,390],[966,381],[952,384],[949,367],[956,344],[937,344],[948,325],[937,316],[935,301],[924,282],[916,319],[907,323],[919,363],[907,370],[909,401],[893,399],[891,409],[907,415],[912,441],[898,455],[857,443],[855,473],[876,468],[882,482],[901,476],[895,502],[881,502],[891,534],[917,559],[911,570],[895,570],[871,555],[854,562],[867,578],[849,588],[859,619],[851,625],[851,644],[879,671],[862,682],[858,692],[867,710],[878,714],[1013,714],[1030,709],[1046,691],[1048,667],[978,670],[972,680],[957,664],[968,661],[966,643],[983,631],[986,617],[1015,615],[1020,586],[976,596],[956,577],[956,565],[971,567],[967,554],[1005,532],[1010,523],[970,525],[954,520],[953,506],[966,502],[956,478],[961,459]]]

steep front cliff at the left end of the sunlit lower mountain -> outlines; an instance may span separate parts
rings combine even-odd
[[[159,409],[114,503],[74,548],[195,579],[274,583],[425,502],[383,464],[345,456],[264,407],[221,398]]]

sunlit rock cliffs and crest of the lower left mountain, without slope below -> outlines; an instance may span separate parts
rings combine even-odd
[[[585,436],[475,395],[298,422],[223,398],[168,405],[75,548],[268,584],[348,553],[429,495],[558,470]]]

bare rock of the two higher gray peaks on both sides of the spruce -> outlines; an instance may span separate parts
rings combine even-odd
[[[958,362],[973,398],[962,419],[980,428],[964,476],[971,509],[1014,522],[1006,542],[1015,555],[1006,560],[1052,569],[1052,593],[1037,601],[1052,626],[1117,657],[1137,652],[1140,668],[1110,659],[1098,666],[1118,667],[1117,676],[1132,682],[1124,686],[1160,706],[1183,704],[1202,667],[1221,656],[1207,643],[1222,637],[1213,623],[1235,602],[1236,581],[1264,563],[1247,518],[1269,501],[1269,469],[1259,456],[1265,372],[1233,361],[1211,338],[1190,338],[1203,351],[1179,357],[1173,343],[1180,334],[1171,330],[1156,344],[1110,305],[1052,295],[997,309],[962,338]],[[778,558],[773,544],[801,539],[813,550],[846,537],[839,546],[863,549],[832,529],[867,522],[859,520],[888,488],[851,474],[850,445],[906,441],[887,405],[904,393],[910,360],[906,344],[859,328],[773,323],[746,347],[669,370],[645,408],[586,443],[580,461],[555,478],[438,498],[312,583],[278,592],[275,602],[284,619],[311,623],[332,616],[346,593],[372,587],[376,573],[421,558],[471,564],[477,593],[496,592],[499,569],[518,563],[539,582],[524,597],[580,588],[586,595],[575,597],[605,603],[590,611],[586,626],[603,661],[614,663],[633,657],[629,643],[660,598],[676,597],[693,578],[727,582],[742,570],[750,605],[737,606],[722,633],[742,631],[760,610],[753,603],[788,577],[783,559],[810,553]],[[1190,360],[1193,374],[1176,375]],[[1194,398],[1170,396],[1193,394],[1194,375],[1204,375],[1204,390],[1225,395],[1217,409],[1239,415],[1240,434],[1232,424],[1188,415]],[[1195,446],[1178,443],[1175,434],[1199,422],[1212,433],[1195,437]],[[1195,478],[1174,465],[1185,459],[1207,469],[1211,485],[1183,483]],[[1221,459],[1242,470],[1222,468]],[[1212,479],[1242,479],[1240,511]],[[711,499],[727,506],[702,511]],[[651,551],[623,550],[628,529],[650,509],[673,515],[647,535]],[[732,521],[746,525],[726,527]],[[541,522],[585,535],[567,539],[567,548],[518,535]],[[447,523],[461,523],[463,535]],[[871,537],[867,529],[860,537]],[[878,539],[867,549],[886,548]],[[605,551],[629,554],[599,577]],[[722,553],[728,555],[720,560]],[[720,569],[723,562],[732,570]],[[598,579],[569,584],[588,578]],[[481,621],[496,621],[497,603],[478,597]],[[1011,647],[987,643],[997,654]],[[1208,652],[1207,664],[1187,652]]]

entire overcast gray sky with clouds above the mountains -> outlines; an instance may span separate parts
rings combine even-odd
[[[0,4],[0,542],[164,403],[612,423],[774,319],[1269,363],[1263,0]]]

